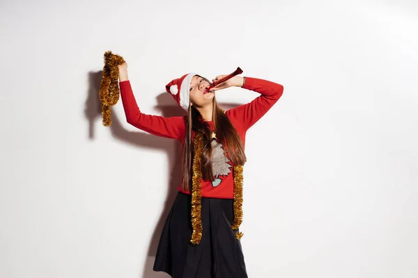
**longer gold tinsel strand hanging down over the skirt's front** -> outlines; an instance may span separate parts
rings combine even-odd
[[[202,152],[203,152],[203,134],[197,133],[194,138],[194,158],[193,158],[193,177],[192,177],[192,239],[190,243],[196,245],[200,243],[202,238],[202,197],[201,197],[201,180],[202,180]]]

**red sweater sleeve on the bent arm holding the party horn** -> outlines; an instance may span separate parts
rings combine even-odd
[[[281,95],[283,95],[284,88],[283,85],[251,77],[245,77],[245,83],[242,88],[261,94],[248,104],[243,104],[227,111],[231,117],[241,122],[242,128],[247,131],[279,100]]]

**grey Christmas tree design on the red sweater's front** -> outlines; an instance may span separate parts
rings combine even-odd
[[[212,186],[216,187],[222,183],[224,177],[231,173],[233,165],[226,156],[226,151],[221,142],[217,141],[215,131],[212,131],[212,173],[215,180],[212,181]]]

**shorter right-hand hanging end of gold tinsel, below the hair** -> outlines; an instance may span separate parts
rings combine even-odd
[[[231,224],[233,230],[238,230],[242,223],[242,183],[244,181],[242,170],[242,165],[233,167],[233,223]],[[236,231],[235,237],[237,239],[242,238],[242,236],[242,232]]]

